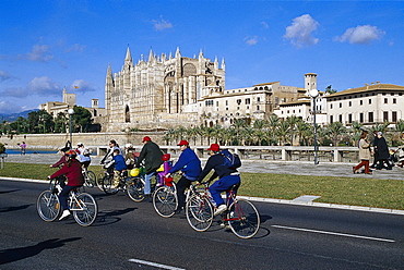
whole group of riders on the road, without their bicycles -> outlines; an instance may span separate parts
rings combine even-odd
[[[164,154],[151,137],[143,137],[142,144],[143,147],[140,152],[135,152],[133,146],[127,144],[123,154],[117,142],[111,139],[109,140],[109,149],[100,160],[100,163],[107,163],[107,171],[111,173],[114,170],[123,173],[127,172],[127,170],[143,167],[145,171],[144,195],[148,200],[151,200],[152,195],[151,182],[153,176],[157,179],[156,185],[158,186],[164,184],[165,179],[171,177],[175,173],[179,173],[181,177],[176,184],[178,198],[176,213],[181,212],[185,208],[185,191],[190,187],[192,182],[195,182],[197,185],[201,184],[204,177],[213,170],[214,173],[209,179],[209,182],[218,177],[209,188],[215,205],[214,216],[226,211],[227,207],[221,193],[229,191],[231,186],[239,184],[240,175],[237,168],[225,164],[225,157],[222,155],[222,149],[218,144],[212,144],[207,148],[210,158],[203,169],[201,167],[201,160],[190,148],[188,140],[182,139],[177,144],[181,154],[174,164],[170,160],[170,155]],[[67,179],[67,184],[60,183],[61,191],[58,195],[63,210],[59,220],[63,220],[70,216],[70,210],[68,208],[69,192],[84,184],[82,168],[86,169],[90,165],[91,157],[88,149],[85,148],[82,143],[78,144],[76,149],[72,149],[72,147],[67,144],[66,147],[60,149],[60,152],[62,154],[60,160],[50,167],[61,167],[61,169],[49,175],[48,179],[56,179],[60,175],[64,175]]]

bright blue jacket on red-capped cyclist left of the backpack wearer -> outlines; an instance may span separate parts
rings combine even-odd
[[[182,171],[186,179],[190,181],[195,181],[202,171],[201,160],[199,160],[197,154],[191,148],[186,148],[177,163],[169,170],[169,173],[175,173],[177,171]]]

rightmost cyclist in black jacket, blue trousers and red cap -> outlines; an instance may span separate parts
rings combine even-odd
[[[201,174],[198,177],[197,184],[200,184],[202,180],[212,171],[214,170],[213,175],[209,181],[214,180],[218,176],[218,180],[213,183],[209,189],[211,192],[212,198],[216,204],[216,209],[214,216],[217,216],[224,211],[226,211],[226,204],[223,200],[221,193],[228,191],[231,188],[233,185],[240,183],[240,173],[233,168],[227,168],[224,165],[224,157],[221,155],[221,147],[218,144],[212,144],[210,148],[209,155],[211,156],[205,167],[203,168]]]

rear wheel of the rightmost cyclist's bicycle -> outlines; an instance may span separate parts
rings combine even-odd
[[[226,221],[240,238],[254,236],[261,223],[257,208],[246,199],[237,199],[231,204]]]

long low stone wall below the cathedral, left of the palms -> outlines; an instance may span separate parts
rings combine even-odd
[[[73,133],[73,146],[83,143],[86,147],[107,147],[110,139],[115,139],[119,146],[124,147],[130,143],[141,145],[142,138],[150,136],[158,145],[165,145],[163,140],[164,132],[117,132],[117,133]],[[9,149],[17,149],[17,144],[25,142],[27,148],[35,149],[58,149],[69,140],[69,134],[20,134],[1,135],[0,143]]]

